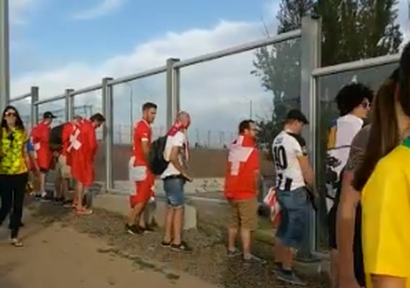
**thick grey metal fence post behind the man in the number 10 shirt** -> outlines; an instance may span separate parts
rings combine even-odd
[[[309,119],[309,130],[304,131],[304,138],[309,149],[309,157],[314,167],[316,162],[316,95],[312,93],[311,73],[320,67],[321,61],[321,18],[313,15],[302,18],[302,37],[300,40],[301,110]],[[317,169],[316,169],[317,171]],[[316,172],[315,171],[315,172]],[[316,261],[312,252],[316,250],[316,215],[313,209],[309,211],[309,233],[299,252],[301,261]]]

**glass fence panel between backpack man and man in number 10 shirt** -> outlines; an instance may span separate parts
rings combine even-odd
[[[180,103],[191,114],[190,174],[194,178],[225,176],[228,145],[244,119],[257,123],[262,174],[272,178],[268,160],[274,136],[291,108],[300,108],[300,40],[231,55],[180,71]]]

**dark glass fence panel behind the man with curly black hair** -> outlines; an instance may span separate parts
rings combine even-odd
[[[326,157],[326,143],[328,140],[328,128],[333,119],[338,117],[337,107],[335,104],[335,96],[337,92],[352,81],[360,81],[370,86],[375,92],[383,81],[392,73],[397,67],[397,63],[381,65],[378,67],[371,67],[361,70],[353,70],[337,74],[330,74],[327,76],[318,77],[316,79],[318,110],[316,113],[316,121],[318,123],[316,135],[316,165],[318,169],[317,183],[321,189],[321,209],[320,209],[320,225],[318,225],[318,233],[321,241],[325,243],[327,237],[327,229],[325,224],[325,157]]]

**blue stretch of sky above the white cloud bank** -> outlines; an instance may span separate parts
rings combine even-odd
[[[106,3],[107,8],[104,0],[32,1],[33,7],[21,16],[25,24],[12,25],[11,39],[16,44],[11,54],[13,76],[37,70],[37,65],[56,67],[70,60],[99,63],[169,31],[212,27],[220,20],[257,22],[268,7],[265,0]],[[25,59],[27,54],[31,59]],[[25,61],[19,60],[22,57]]]

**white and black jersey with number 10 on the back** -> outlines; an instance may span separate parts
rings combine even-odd
[[[302,136],[290,131],[280,132],[273,140],[272,154],[276,171],[276,188],[289,191],[306,185],[297,159],[306,155],[306,142]]]

